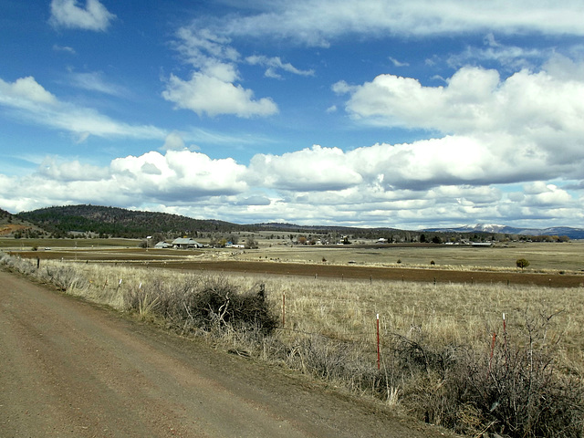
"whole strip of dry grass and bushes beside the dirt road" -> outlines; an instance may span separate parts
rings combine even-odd
[[[0,263],[457,433],[582,436],[581,288],[201,276],[46,260],[37,268],[7,255]]]

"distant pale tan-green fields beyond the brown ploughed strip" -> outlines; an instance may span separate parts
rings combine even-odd
[[[401,266],[428,267],[433,266],[454,269],[506,269],[515,270],[516,260],[526,258],[532,272],[582,272],[584,273],[584,241],[569,243],[509,243],[497,244],[493,247],[477,248],[466,245],[383,245],[368,247],[367,245],[334,245],[334,246],[287,246],[274,245],[273,240],[259,240],[259,249],[204,249],[204,250],[154,250],[148,252],[139,249],[140,240],[131,239],[2,239],[0,249],[30,250],[51,248],[55,253],[59,249],[78,250],[78,256],[91,259],[96,255],[90,252],[109,249],[109,253],[99,255],[105,259],[107,254],[112,258],[127,259],[157,257],[162,260],[241,260],[241,261],[280,261],[322,264],[325,259],[328,265],[362,266]],[[116,251],[114,251],[116,250]],[[131,251],[121,251],[131,250]],[[116,255],[114,255],[116,253]],[[145,254],[142,254],[145,253]],[[74,254],[73,254],[74,255]],[[38,255],[52,256],[52,255]],[[54,255],[57,256],[57,255]],[[71,253],[64,256],[68,258]],[[401,263],[398,263],[398,260]]]

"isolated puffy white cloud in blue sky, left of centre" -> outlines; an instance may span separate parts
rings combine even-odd
[[[162,97],[174,102],[177,108],[193,110],[199,116],[234,114],[249,118],[270,116],[278,111],[272,99],[255,100],[250,89],[196,71],[186,81],[171,75]]]

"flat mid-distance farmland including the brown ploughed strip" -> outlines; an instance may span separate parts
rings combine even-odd
[[[253,250],[139,248],[125,239],[23,240],[12,253],[28,258],[122,263],[183,270],[249,272],[338,279],[401,280],[436,283],[503,283],[546,287],[584,285],[584,242],[512,243],[492,247],[467,245],[269,245]],[[4,241],[4,245],[5,245]],[[16,242],[11,239],[10,242]],[[20,242],[19,242],[20,243]],[[61,243],[69,246],[59,246]],[[109,244],[109,245],[106,245]],[[117,245],[116,245],[117,244]],[[50,246],[49,246],[50,245]],[[51,248],[51,249],[45,249]],[[518,258],[530,265],[520,270]]]

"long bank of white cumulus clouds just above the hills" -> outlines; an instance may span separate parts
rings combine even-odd
[[[464,150],[456,141],[461,140],[376,144],[354,151],[315,145],[282,155],[257,154],[248,166],[186,150],[120,157],[105,167],[47,158],[31,175],[0,175],[0,204],[16,212],[47,204],[160,205],[167,212],[236,223],[403,228],[441,220],[464,224],[469,217],[514,224],[518,217],[530,221],[552,213],[556,224],[584,220],[577,183],[543,183],[535,179],[537,168],[530,175],[533,183],[523,183],[519,192],[517,183],[509,184],[516,181],[511,169],[517,164],[497,169],[501,161],[481,156],[488,150],[478,153],[468,144],[464,148],[470,152],[463,157],[444,153],[449,147]],[[495,180],[484,184],[489,172]],[[568,185],[577,192],[570,193]]]

